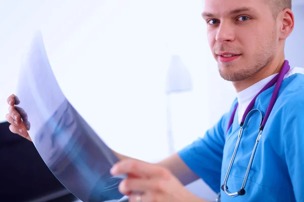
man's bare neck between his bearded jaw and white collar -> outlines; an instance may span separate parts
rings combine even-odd
[[[273,74],[279,73],[282,69],[284,64],[285,57],[281,57],[279,60],[273,60],[270,64],[264,67],[261,71],[255,73],[251,77],[244,79],[242,81],[235,81],[233,85],[238,92],[245,90],[246,88],[250,87],[251,85],[267,78]]]

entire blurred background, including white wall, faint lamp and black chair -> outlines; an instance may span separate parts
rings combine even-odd
[[[157,162],[202,137],[236,96],[218,74],[201,18],[202,0],[0,0],[0,201],[73,201],[34,146],[9,132],[32,34],[43,34],[57,81],[112,149]],[[304,67],[304,1],[293,1],[290,65]],[[208,200],[201,180],[188,189]]]

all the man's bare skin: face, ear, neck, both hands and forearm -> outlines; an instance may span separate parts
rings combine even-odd
[[[244,8],[250,8],[245,9]],[[238,12],[236,12],[238,10]],[[234,12],[233,12],[234,11]],[[202,14],[207,23],[208,42],[223,79],[232,81],[236,91],[278,73],[285,60],[285,39],[294,26],[294,17],[289,9],[278,12],[264,0],[206,0]],[[223,63],[218,52],[241,54],[238,59]],[[7,99],[10,130],[31,140],[29,126],[21,120],[16,109],[20,103],[13,94]],[[24,114],[23,114],[24,115]],[[16,117],[15,117],[16,116]],[[14,123],[16,121],[16,123]],[[28,128],[26,128],[28,126]],[[193,173],[177,154],[149,164],[124,155],[113,153],[121,160],[111,169],[112,175],[128,174],[119,190],[130,196],[130,201],[204,201],[184,188],[199,177]]]

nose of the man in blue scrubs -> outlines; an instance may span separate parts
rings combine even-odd
[[[234,41],[235,34],[233,31],[233,26],[230,23],[221,22],[218,26],[215,39],[220,43]]]

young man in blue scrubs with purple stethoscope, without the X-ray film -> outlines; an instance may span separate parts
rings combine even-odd
[[[304,201],[304,71],[289,69],[284,56],[294,27],[291,0],[205,0],[202,16],[219,73],[232,81],[238,97],[203,138],[158,164],[114,151],[121,161],[111,174],[128,174],[120,191],[130,201],[199,202],[184,185],[202,178],[221,193],[221,201]],[[30,140],[14,95],[8,103],[10,130]],[[259,111],[246,118],[251,109]],[[234,154],[241,126],[243,138]]]

